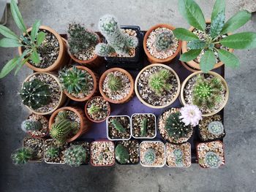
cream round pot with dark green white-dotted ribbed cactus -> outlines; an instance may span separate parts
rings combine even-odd
[[[52,113],[66,100],[59,79],[46,72],[36,72],[26,77],[20,97],[22,103],[37,115]]]

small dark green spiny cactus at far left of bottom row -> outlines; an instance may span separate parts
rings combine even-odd
[[[26,147],[19,148],[12,153],[11,158],[15,165],[26,164],[31,158],[33,158],[33,150]]]

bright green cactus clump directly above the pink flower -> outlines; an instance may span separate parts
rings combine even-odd
[[[219,78],[213,77],[208,80],[199,75],[192,90],[192,102],[198,107],[206,106],[211,110],[222,101],[223,89]]]

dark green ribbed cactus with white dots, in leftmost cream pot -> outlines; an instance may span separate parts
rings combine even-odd
[[[37,110],[50,103],[50,89],[44,82],[34,79],[23,83],[20,97],[23,104]]]

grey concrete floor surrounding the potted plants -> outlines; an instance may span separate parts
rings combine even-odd
[[[214,0],[197,0],[210,17]],[[27,26],[41,19],[45,26],[64,33],[67,23],[77,21],[97,30],[101,15],[112,13],[121,24],[138,25],[143,30],[157,23],[188,28],[177,10],[178,0],[31,0],[20,1]],[[227,18],[240,9],[239,0],[227,0]],[[10,14],[9,14],[10,16]],[[17,30],[10,17],[7,26]],[[256,15],[239,31],[256,31]],[[17,49],[0,48],[0,66],[18,54]],[[14,77],[0,80],[0,191],[256,191],[256,50],[237,50],[240,69],[226,70],[230,100],[225,107],[225,158],[222,169],[146,169],[141,166],[94,168],[48,164],[13,166],[10,153],[20,147],[25,134],[20,123],[28,112],[21,107],[17,92],[31,71],[24,67]]]

